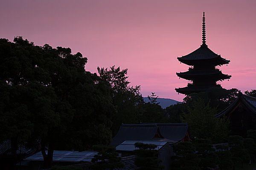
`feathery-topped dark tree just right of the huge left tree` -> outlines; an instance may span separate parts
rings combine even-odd
[[[120,70],[112,66],[110,69],[99,68],[99,77],[111,89],[111,98],[117,112],[113,115],[113,135],[122,123],[139,123],[139,104],[143,104],[140,86],[128,86],[128,69]]]

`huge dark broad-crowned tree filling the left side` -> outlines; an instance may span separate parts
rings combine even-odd
[[[55,149],[109,144],[116,112],[111,90],[85,71],[86,63],[70,48],[0,39],[0,140],[26,141],[30,147],[39,142],[44,167],[50,167]]]

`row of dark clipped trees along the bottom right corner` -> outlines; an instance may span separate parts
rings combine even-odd
[[[250,130],[249,130],[250,131]],[[256,135],[255,132],[249,132]],[[209,139],[195,139],[173,145],[172,170],[233,170],[255,162],[256,144],[252,138],[229,136],[227,143],[212,145]]]

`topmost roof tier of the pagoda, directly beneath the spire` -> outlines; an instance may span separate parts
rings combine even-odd
[[[230,61],[221,58],[221,55],[215,54],[208,48],[206,44],[202,44],[198,49],[189,53],[188,55],[178,57],[180,62],[187,64],[189,66],[194,66],[195,64],[204,62],[209,63],[214,66],[228,64]]]

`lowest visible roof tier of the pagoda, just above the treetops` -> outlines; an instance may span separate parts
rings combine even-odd
[[[182,88],[175,88],[176,92],[188,95],[191,93],[198,93],[198,92],[204,92],[207,91],[207,89],[212,88],[212,87],[218,87],[221,88],[220,85],[195,85],[195,84],[188,84],[186,87]]]

